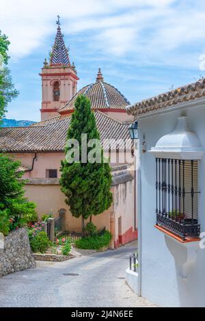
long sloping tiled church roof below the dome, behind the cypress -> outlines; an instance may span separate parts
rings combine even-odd
[[[95,112],[100,140],[128,140],[128,125],[114,120],[102,112]],[[0,130],[0,152],[63,152],[71,118],[59,117],[37,123],[29,127],[10,127]],[[122,142],[119,148],[122,148]],[[131,146],[128,144],[128,147]],[[107,146],[105,146],[107,148]]]

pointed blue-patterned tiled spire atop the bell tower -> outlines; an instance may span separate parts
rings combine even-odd
[[[66,49],[64,37],[61,34],[59,16],[58,16],[57,25],[58,25],[57,34],[55,36],[55,44],[53,46],[53,50],[51,53],[50,64],[51,65],[70,66],[70,60],[68,57],[68,49]]]

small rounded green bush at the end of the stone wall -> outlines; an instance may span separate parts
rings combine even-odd
[[[45,253],[46,250],[51,246],[51,242],[49,241],[49,237],[43,231],[40,231],[35,236],[33,233],[29,232],[29,240],[31,245],[31,250],[33,253]]]

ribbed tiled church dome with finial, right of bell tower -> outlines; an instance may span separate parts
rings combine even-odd
[[[79,90],[64,107],[61,107],[59,113],[74,110],[74,102],[80,94],[90,99],[92,110],[126,110],[126,106],[130,105],[118,89],[104,81],[100,69],[96,82]]]

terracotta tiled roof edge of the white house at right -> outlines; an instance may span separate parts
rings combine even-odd
[[[159,94],[150,99],[144,99],[139,103],[126,107],[128,115],[140,116],[155,110],[167,109],[171,106],[205,96],[205,79],[200,79],[187,86],[182,86],[176,90]]]

